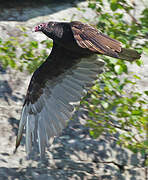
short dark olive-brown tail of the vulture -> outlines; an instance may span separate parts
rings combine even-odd
[[[118,53],[120,59],[127,60],[127,61],[134,61],[140,59],[141,53],[138,53],[134,49],[126,49],[122,48],[121,52]]]

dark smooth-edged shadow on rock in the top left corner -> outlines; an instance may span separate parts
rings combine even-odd
[[[78,2],[84,0],[0,0],[0,2],[1,1],[0,21],[27,21],[31,18],[50,15],[63,9],[76,6]]]

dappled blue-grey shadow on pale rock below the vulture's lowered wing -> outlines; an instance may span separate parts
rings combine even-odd
[[[75,117],[81,119],[83,113],[77,112]],[[10,120],[13,130],[16,132],[17,120],[12,118]],[[28,163],[27,167],[24,167],[20,160],[21,169],[0,168],[0,175],[1,172],[6,171],[10,177],[22,180],[28,178],[41,180],[116,178],[122,180],[125,179],[125,174],[126,176],[128,174],[128,178],[131,180],[140,177],[139,171],[126,170],[128,163],[133,165],[132,159],[135,161],[135,156],[136,163],[140,164],[140,157],[133,154],[131,156],[126,149],[116,145],[110,134],[101,136],[99,139],[92,139],[89,136],[89,129],[80,121],[75,118],[69,122],[69,126],[63,130],[61,136],[55,138],[43,159],[40,159],[38,150],[36,150],[38,147],[34,147],[30,156],[32,163]],[[23,139],[22,144],[24,145],[24,143]],[[36,167],[34,167],[35,163],[37,163]]]

